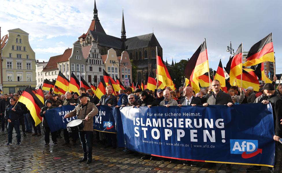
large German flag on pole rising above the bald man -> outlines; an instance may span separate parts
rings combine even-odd
[[[192,83],[198,85],[198,77],[204,75],[206,72],[209,72],[209,62],[207,57],[206,41],[204,41],[187,62],[184,74],[186,78],[192,81]]]

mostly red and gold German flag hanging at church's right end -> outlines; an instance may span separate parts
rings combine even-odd
[[[168,73],[166,65],[164,64],[162,58],[158,54],[158,51],[157,51],[157,79],[158,81],[161,81],[163,85],[169,86],[170,88],[174,88],[173,82]]]

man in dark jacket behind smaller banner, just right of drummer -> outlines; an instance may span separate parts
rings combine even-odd
[[[106,87],[106,94],[103,95],[99,101],[99,103],[96,106],[100,105],[108,105],[108,106],[116,106],[117,100],[116,96],[112,94],[112,87],[107,86]],[[107,145],[104,146],[104,148],[108,148],[110,146],[113,146],[113,148],[116,148],[116,134],[115,133],[99,133],[100,140],[105,140],[105,135],[107,137]]]

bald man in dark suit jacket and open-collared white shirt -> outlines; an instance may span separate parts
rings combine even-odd
[[[191,106],[202,105],[201,100],[193,96],[193,89],[191,87],[185,87],[183,89],[183,96],[185,98],[182,98],[180,100],[180,104],[178,105],[179,107],[181,107],[182,105],[191,105]]]

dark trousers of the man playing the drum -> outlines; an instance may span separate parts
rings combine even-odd
[[[92,159],[93,135],[92,131],[80,131],[79,137],[82,145],[83,156]]]

